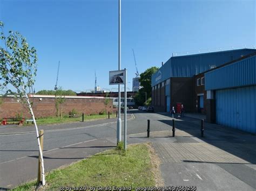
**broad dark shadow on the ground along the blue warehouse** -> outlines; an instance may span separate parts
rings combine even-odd
[[[193,137],[199,138],[208,144],[235,155],[236,157],[251,162],[251,164],[256,164],[255,135],[237,129],[205,123],[204,137],[201,137],[200,120],[192,119],[193,122],[190,122],[190,118],[188,117],[184,118],[184,120],[186,121],[176,121],[177,129],[185,131]],[[171,119],[158,121],[172,126]]]

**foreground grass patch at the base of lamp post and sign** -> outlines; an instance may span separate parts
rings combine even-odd
[[[76,164],[56,169],[46,175],[44,189],[61,186],[155,186],[154,171],[148,144],[129,145],[125,154],[108,150]],[[35,189],[35,182],[16,188]]]

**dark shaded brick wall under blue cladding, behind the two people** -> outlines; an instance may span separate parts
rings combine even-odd
[[[171,107],[177,103],[184,104],[185,112],[194,111],[194,78],[171,77]]]

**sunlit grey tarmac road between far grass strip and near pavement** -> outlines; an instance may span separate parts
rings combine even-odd
[[[151,119],[152,131],[170,130],[167,124],[158,124],[158,119],[170,119],[166,116],[161,116],[152,113],[135,112],[134,118],[129,114],[129,122],[127,122],[127,135],[134,133],[146,132],[147,119]],[[116,121],[114,119],[104,119],[89,123],[69,123],[52,126],[40,126],[39,129],[44,129],[44,151],[53,150],[55,148],[64,147],[80,142],[85,142],[92,139],[116,137]],[[5,128],[5,135],[0,135],[0,164],[26,157],[28,155],[38,154],[38,146],[36,140],[35,128],[33,126],[21,128],[12,128],[7,131]],[[123,127],[123,124],[122,124]],[[17,131],[17,128],[18,131]],[[0,134],[3,129],[0,129]],[[9,134],[15,133],[17,134]],[[27,132],[27,133],[25,133]],[[123,136],[123,133],[122,133]]]

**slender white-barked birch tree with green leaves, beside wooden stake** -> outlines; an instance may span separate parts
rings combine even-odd
[[[7,90],[7,93],[12,93],[12,90],[16,89],[19,100],[22,100],[22,103],[29,109],[36,128],[39,157],[42,161],[42,185],[44,186],[43,152],[39,142],[35,115],[29,100],[29,95],[33,93],[37,72],[36,49],[30,48],[26,39],[19,32],[9,31],[8,35],[5,36],[4,24],[1,21],[0,28],[0,85]]]

